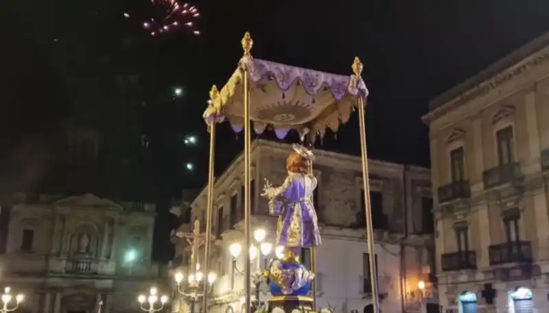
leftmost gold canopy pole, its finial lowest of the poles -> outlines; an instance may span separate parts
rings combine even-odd
[[[215,100],[218,97],[219,92],[218,88],[213,85],[211,86],[210,99],[211,101]],[[217,112],[216,114],[218,114]],[[208,275],[209,266],[210,266],[210,243],[211,243],[211,217],[213,211],[213,163],[215,156],[215,122],[217,117],[208,125],[208,130],[210,132],[210,155],[209,155],[209,167],[208,167],[208,204],[206,209],[206,235],[205,235],[205,248],[204,248],[204,273]],[[200,225],[199,225],[200,226]],[[200,233],[199,233],[200,235]],[[194,242],[198,244],[199,237],[195,237]],[[196,261],[196,260],[195,260]],[[196,272],[196,266],[194,272]],[[208,313],[208,294],[209,294],[208,283],[204,283],[203,295],[202,295],[202,312]]]

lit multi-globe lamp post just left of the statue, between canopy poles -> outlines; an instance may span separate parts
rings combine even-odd
[[[267,232],[265,229],[256,229],[253,232],[253,237],[255,239],[255,242],[259,244],[259,250],[255,245],[250,245],[250,259],[248,262],[255,263],[255,272],[251,273],[251,279],[255,287],[255,305],[259,306],[259,286],[261,285],[261,282],[264,281],[265,277],[263,272],[261,271],[261,257],[259,251],[261,251],[261,255],[263,255],[263,268],[266,269],[268,267],[268,255],[270,255],[272,251],[272,244],[270,242],[265,242],[265,238],[267,236]],[[240,270],[237,267],[237,257],[239,257],[240,253],[242,253],[242,244],[240,243],[233,243],[231,246],[229,246],[229,253],[231,253],[231,256],[233,257],[233,270],[240,273],[240,275],[244,275],[244,270]],[[280,247],[277,247],[275,250],[275,253],[277,257],[281,257],[282,249]],[[254,262],[255,261],[255,262]]]

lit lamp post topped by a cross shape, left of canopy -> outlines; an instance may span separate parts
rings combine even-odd
[[[207,284],[206,290],[207,293],[209,293],[212,290],[211,287],[213,282],[218,277],[215,273],[209,272],[206,277],[206,281],[204,281],[204,274],[200,271],[200,264],[198,263],[197,257],[198,247],[205,242],[205,236],[200,234],[200,222],[198,222],[198,220],[194,222],[194,231],[192,233],[178,233],[177,235],[178,237],[184,237],[187,242],[189,242],[192,247],[192,251],[190,271],[187,274],[187,283],[183,285],[185,275],[183,275],[180,271],[175,273],[174,280],[177,283],[177,291],[183,299],[187,299],[187,301],[191,302],[191,313],[194,313],[194,306],[196,302],[198,302],[198,299],[204,297],[205,295],[205,291],[203,289],[204,284]],[[215,240],[215,238],[213,239]]]

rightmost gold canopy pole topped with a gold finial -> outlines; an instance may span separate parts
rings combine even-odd
[[[362,62],[358,57],[355,57],[353,62],[353,73],[357,80],[360,80],[362,74]],[[368,173],[368,154],[366,152],[366,104],[364,103],[364,95],[358,97],[358,124],[360,127],[360,150],[362,152],[362,184],[364,188],[364,203],[366,205],[366,240],[368,242],[368,256],[370,263],[370,281],[372,284],[373,294],[373,312],[379,313],[379,294],[377,293],[377,267],[375,266],[375,249],[373,244],[373,227],[372,227],[372,211],[370,205],[370,181]]]

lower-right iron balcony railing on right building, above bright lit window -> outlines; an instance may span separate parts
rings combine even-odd
[[[532,262],[530,242],[505,242],[489,246],[490,265]]]

